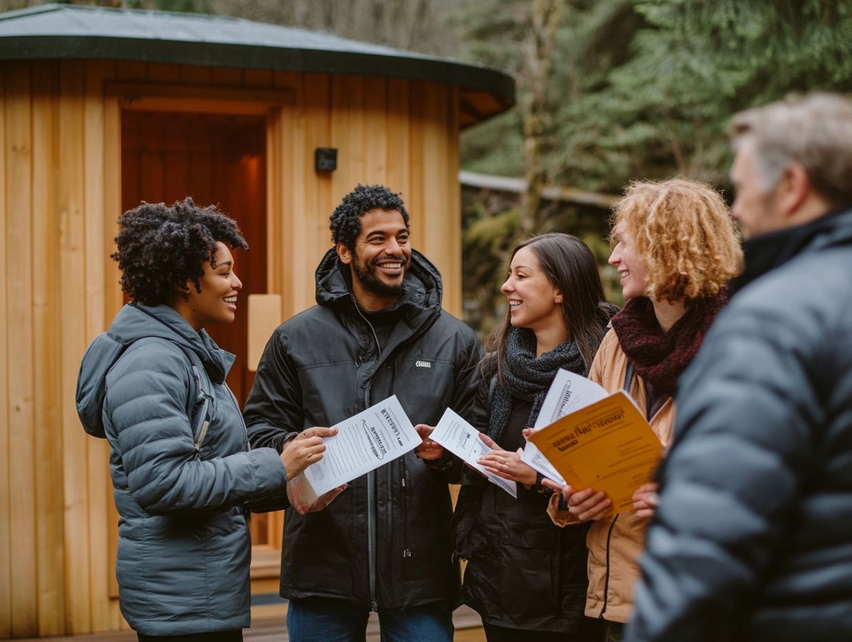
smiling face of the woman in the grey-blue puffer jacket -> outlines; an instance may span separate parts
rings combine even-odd
[[[176,296],[172,305],[196,332],[210,324],[231,323],[237,313],[237,292],[243,284],[233,271],[231,250],[222,241],[216,241],[213,263],[215,268],[210,261],[204,263],[201,292],[193,281],[187,281],[187,300]]]

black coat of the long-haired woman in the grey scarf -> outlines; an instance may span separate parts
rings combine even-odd
[[[480,431],[488,430],[496,369],[496,360],[488,359],[477,391],[472,423]],[[500,445],[506,444],[501,440]],[[463,601],[498,627],[585,639],[589,526],[556,526],[547,514],[549,500],[520,483],[515,499],[477,473],[464,472],[453,515],[456,554],[468,560]]]

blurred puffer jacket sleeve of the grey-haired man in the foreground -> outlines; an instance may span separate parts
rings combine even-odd
[[[796,518],[823,422],[809,367],[820,361],[808,344],[822,333],[801,315],[737,303],[680,383],[631,642],[731,639],[728,627]]]

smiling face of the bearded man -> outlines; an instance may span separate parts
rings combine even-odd
[[[400,298],[412,260],[408,227],[397,210],[370,210],[361,217],[354,251],[337,244],[337,255],[352,266],[355,299],[364,309],[389,308]]]

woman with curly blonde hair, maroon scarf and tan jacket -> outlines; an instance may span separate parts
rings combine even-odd
[[[626,303],[613,316],[589,379],[610,392],[628,390],[663,446],[671,439],[677,380],[727,300],[742,252],[722,196],[701,182],[675,178],[635,182],[615,205],[610,265],[621,275]],[[556,487],[558,488],[558,487]],[[595,489],[561,489],[568,510],[551,498],[559,524],[592,521],[585,613],[621,639],[633,608],[636,559],[653,515],[656,485],[633,495],[632,512],[610,514],[612,500]],[[574,527],[576,528],[576,526]]]

